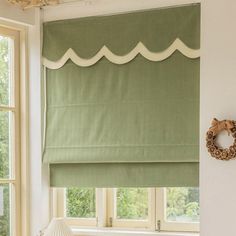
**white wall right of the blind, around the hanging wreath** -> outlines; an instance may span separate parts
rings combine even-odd
[[[236,1],[202,1],[201,236],[236,235],[236,161],[209,157],[212,118],[236,120]]]

